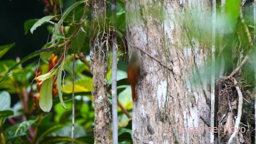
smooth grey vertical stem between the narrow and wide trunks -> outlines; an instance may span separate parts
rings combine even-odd
[[[112,44],[112,122],[113,122],[113,144],[118,144],[118,120],[117,120],[117,88],[116,88],[116,69],[117,69],[117,44],[116,44],[116,0],[112,0],[112,21],[114,25],[113,44]]]

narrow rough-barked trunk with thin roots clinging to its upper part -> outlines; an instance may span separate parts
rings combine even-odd
[[[104,0],[92,0],[92,28],[90,36],[91,72],[94,82],[94,140],[96,144],[110,143],[110,104],[107,96],[107,60],[104,22],[106,3]]]

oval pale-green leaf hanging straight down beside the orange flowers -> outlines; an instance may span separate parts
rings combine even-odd
[[[40,90],[39,106],[44,112],[50,112],[52,109],[52,77],[48,78],[42,84]]]

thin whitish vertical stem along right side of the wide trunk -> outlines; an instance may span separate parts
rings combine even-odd
[[[216,30],[216,0],[212,0],[212,73],[211,73],[211,120],[210,126],[214,126],[215,104],[215,30]],[[210,133],[210,143],[214,144],[214,133]]]

